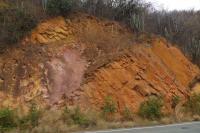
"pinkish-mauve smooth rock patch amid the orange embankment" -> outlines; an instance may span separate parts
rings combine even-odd
[[[46,68],[50,103],[57,103],[62,97],[73,99],[80,96],[78,89],[83,80],[86,61],[81,59],[77,51],[66,50],[61,57],[47,62]]]

